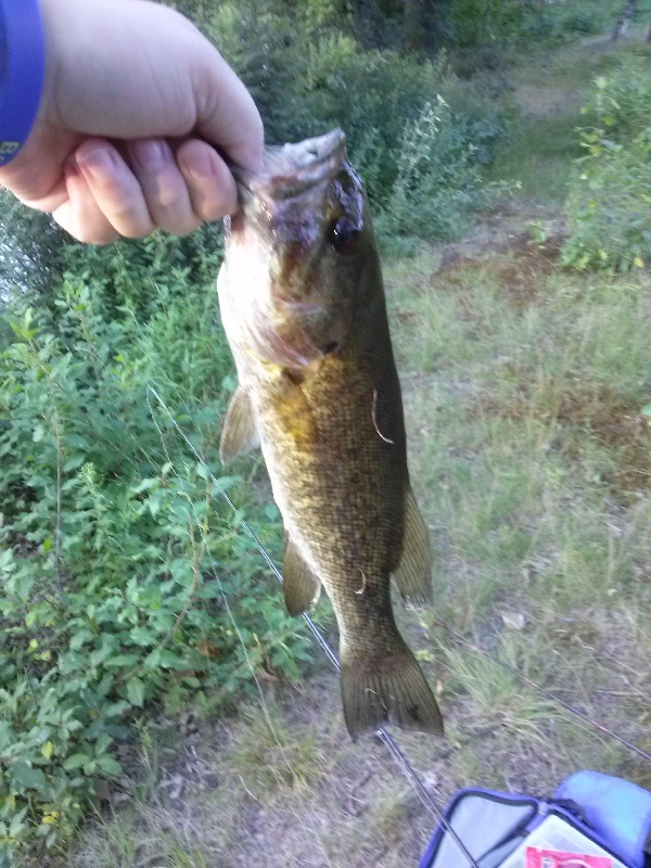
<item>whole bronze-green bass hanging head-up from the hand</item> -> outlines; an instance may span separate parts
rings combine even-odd
[[[443,733],[427,681],[394,618],[432,599],[427,531],[413,496],[380,257],[361,181],[335,129],[265,149],[233,171],[218,277],[238,371],[220,458],[261,448],[284,524],[291,615],[323,587],[340,636],[354,740],[384,723]]]

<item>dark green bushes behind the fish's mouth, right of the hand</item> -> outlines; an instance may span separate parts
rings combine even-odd
[[[494,91],[461,88],[445,52],[421,58],[363,50],[352,17],[328,0],[226,2],[206,29],[253,93],[269,143],[301,141],[335,126],[345,130],[375,213],[399,212],[399,219],[384,225],[392,234],[449,237],[484,204],[476,167],[506,133],[508,113]],[[259,43],[250,38],[256,31],[265,35]],[[413,129],[416,139],[406,140]],[[425,220],[417,205],[403,205],[414,159],[432,201]]]

